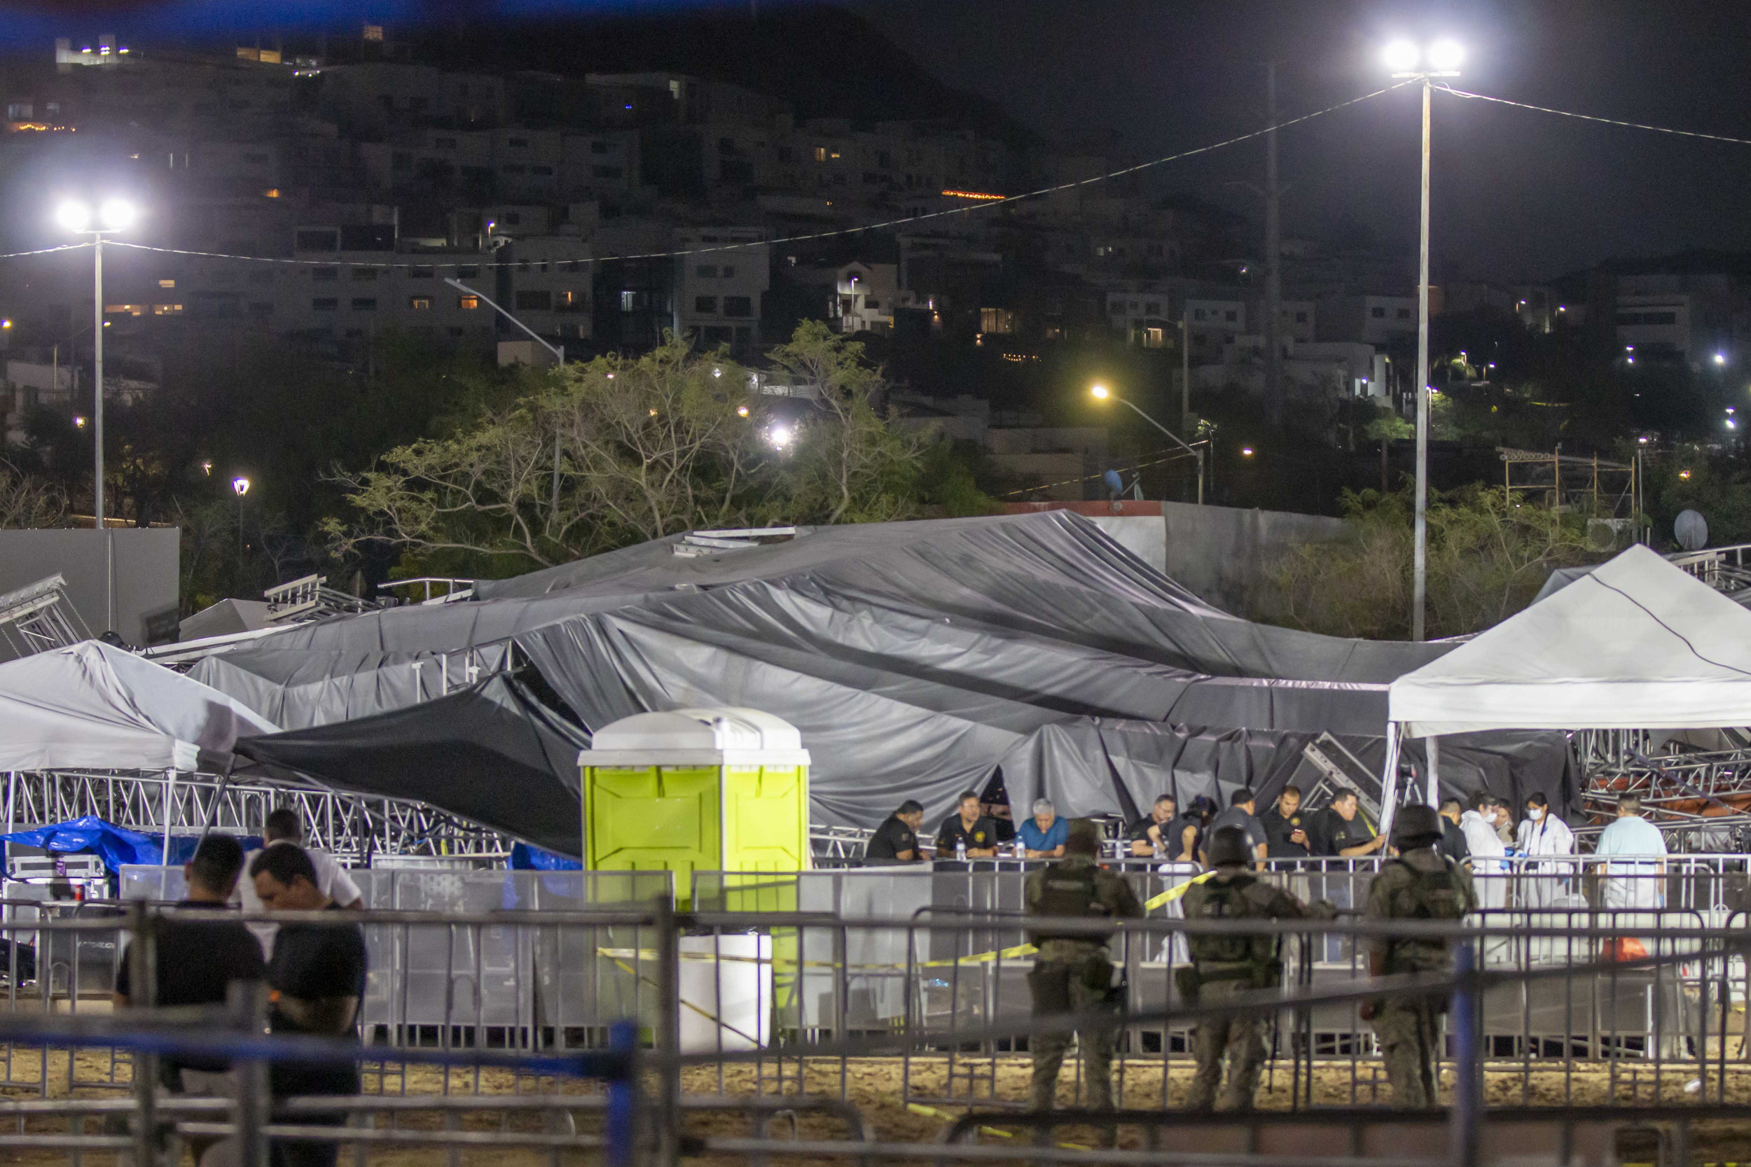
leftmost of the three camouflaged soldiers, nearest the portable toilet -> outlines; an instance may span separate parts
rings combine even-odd
[[[1065,857],[1028,877],[1028,913],[1044,917],[1105,917],[1114,920],[1138,919],[1143,906],[1131,885],[1119,875],[1103,871],[1094,863],[1100,838],[1094,824],[1070,824]],[[1112,1003],[1112,957],[1107,938],[1082,933],[1054,936],[1035,931],[1033,971],[1028,989],[1033,990],[1033,1015],[1086,1013]],[[1112,1053],[1115,1031],[1080,1031],[1082,1067],[1087,1080],[1087,1099],[1093,1109],[1112,1109]],[[1058,1069],[1070,1048],[1068,1032],[1035,1034],[1033,1046],[1033,1109],[1049,1111],[1058,1094]]]

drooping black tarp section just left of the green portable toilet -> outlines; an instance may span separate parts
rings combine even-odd
[[[510,675],[411,709],[238,742],[277,777],[440,807],[581,856],[578,751],[590,737]]]

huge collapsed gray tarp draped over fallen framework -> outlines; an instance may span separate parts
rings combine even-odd
[[[1378,735],[1385,684],[1453,647],[1236,619],[1066,511],[700,556],[658,541],[487,591],[538,595],[336,618],[196,675],[322,724],[429,698],[511,642],[587,726],[688,705],[784,717],[814,756],[818,815],[874,826],[904,798],[946,812],[1063,721]]]

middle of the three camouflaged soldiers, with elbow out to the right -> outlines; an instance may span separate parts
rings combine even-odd
[[[1210,838],[1208,857],[1215,875],[1187,889],[1187,920],[1299,920],[1333,915],[1331,905],[1324,901],[1310,908],[1289,892],[1250,875],[1247,866],[1254,859],[1254,850],[1247,833],[1238,826],[1224,826]],[[1276,987],[1283,973],[1278,940],[1271,934],[1192,936],[1189,943],[1192,964],[1175,973],[1180,997],[1187,1004],[1215,1004],[1257,989]],[[1192,1032],[1192,1052],[1198,1059],[1198,1074],[1185,1099],[1189,1109],[1210,1109],[1219,1087],[1222,1087],[1222,1109],[1252,1109],[1259,1069],[1264,1066],[1261,1015],[1229,1013],[1199,1020]]]

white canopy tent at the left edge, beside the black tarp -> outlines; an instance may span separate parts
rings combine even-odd
[[[224,770],[240,737],[278,726],[219,689],[82,640],[0,665],[0,770]],[[7,791],[7,833],[14,791]]]

